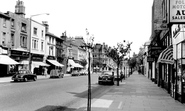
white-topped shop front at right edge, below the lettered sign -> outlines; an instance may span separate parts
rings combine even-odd
[[[185,24],[172,25],[175,58],[175,99],[185,103]]]

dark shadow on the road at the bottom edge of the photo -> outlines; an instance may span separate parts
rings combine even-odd
[[[66,106],[53,106],[53,105],[47,105],[40,109],[37,109],[35,111],[75,111],[77,109],[74,108],[68,108]]]

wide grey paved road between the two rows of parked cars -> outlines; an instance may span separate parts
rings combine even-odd
[[[97,77],[91,76],[93,96],[111,87],[99,86]],[[87,76],[3,83],[0,89],[1,111],[49,111],[87,100]]]

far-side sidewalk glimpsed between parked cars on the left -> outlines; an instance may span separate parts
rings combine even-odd
[[[64,74],[64,77],[71,76],[70,74]],[[37,79],[48,79],[50,76],[43,76],[43,75],[37,75]],[[11,76],[10,77],[1,77],[0,78],[0,83],[5,83],[5,82],[11,82],[13,81]]]

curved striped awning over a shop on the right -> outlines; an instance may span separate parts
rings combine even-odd
[[[158,58],[158,63],[174,64],[172,45],[164,49]]]

